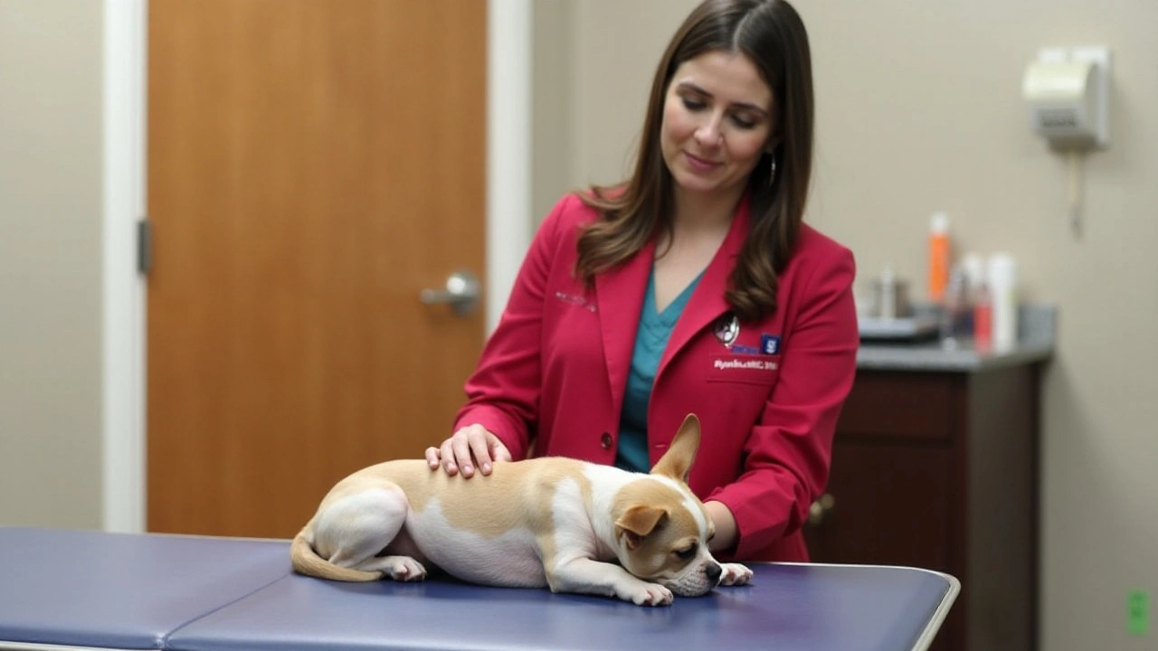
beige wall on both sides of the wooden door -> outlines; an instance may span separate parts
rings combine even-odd
[[[536,214],[620,177],[646,85],[692,0],[536,0]],[[919,286],[929,213],[970,249],[1021,262],[1061,308],[1047,376],[1043,637],[1054,651],[1152,649],[1124,634],[1158,593],[1158,2],[798,0],[819,100],[809,220]],[[98,0],[0,0],[0,525],[101,514]],[[1086,166],[1086,232],[1067,173],[1019,97],[1042,45],[1106,43],[1113,136]],[[1151,626],[1151,629],[1158,628]]]

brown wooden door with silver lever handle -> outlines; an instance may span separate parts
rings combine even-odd
[[[484,336],[484,0],[151,0],[148,522],[292,536],[450,433]]]

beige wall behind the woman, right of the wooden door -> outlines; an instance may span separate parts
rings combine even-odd
[[[548,2],[570,12],[536,43],[572,45],[557,71],[571,104],[554,127],[572,142],[555,152],[571,176],[536,180],[538,196],[622,175],[653,67],[695,3]],[[1126,634],[1126,598],[1158,594],[1158,2],[796,6],[818,96],[808,219],[853,249],[860,281],[888,263],[923,293],[929,215],[946,210],[963,249],[1012,251],[1024,295],[1060,307],[1045,386],[1043,648],[1153,649],[1153,616],[1149,638]],[[1075,237],[1067,167],[1029,131],[1020,78],[1038,47],[1087,44],[1114,51],[1113,145],[1086,162]]]

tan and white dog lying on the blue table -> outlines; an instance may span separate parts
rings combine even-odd
[[[474,478],[425,460],[387,461],[335,485],[294,537],[295,571],[337,580],[420,580],[426,566],[494,586],[543,587],[661,606],[740,585],[719,563],[688,489],[699,446],[689,415],[650,474],[572,459],[496,463]]]

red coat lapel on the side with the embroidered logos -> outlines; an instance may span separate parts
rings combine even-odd
[[[667,341],[664,357],[660,358],[659,368],[655,371],[657,380],[672,358],[679,354],[697,332],[732,309],[724,298],[724,292],[727,290],[728,276],[735,266],[735,259],[743,247],[743,240],[748,235],[748,199],[745,197],[736,207],[724,243],[708,263],[699,284],[691,292],[688,305],[672,329],[672,337]]]

